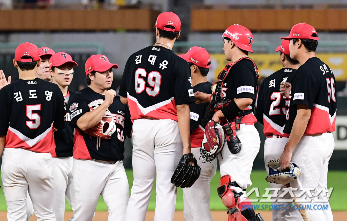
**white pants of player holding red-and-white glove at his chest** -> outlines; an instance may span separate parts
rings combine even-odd
[[[123,161],[73,159],[72,174],[75,210],[71,221],[91,221],[100,195],[108,206],[108,221],[124,221],[129,183]]]

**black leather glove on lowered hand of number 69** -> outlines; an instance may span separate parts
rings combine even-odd
[[[194,161],[194,165],[189,164]],[[185,188],[191,187],[200,176],[201,168],[197,164],[196,159],[192,153],[184,154],[179,160],[178,166],[171,177],[171,183],[177,187]]]

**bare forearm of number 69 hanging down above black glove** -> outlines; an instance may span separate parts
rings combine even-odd
[[[177,118],[179,133],[183,141],[183,154],[191,153],[190,150],[190,109],[188,104],[177,105]]]

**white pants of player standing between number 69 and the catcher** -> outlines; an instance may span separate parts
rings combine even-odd
[[[217,159],[202,163],[200,148],[192,148],[201,174],[190,188],[183,188],[185,221],[212,221],[210,210],[211,179],[216,175]],[[217,192],[217,190],[216,190]]]

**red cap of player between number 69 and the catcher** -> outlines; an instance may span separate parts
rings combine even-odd
[[[198,46],[191,47],[186,54],[178,56],[198,67],[209,68],[211,66],[210,54],[208,54],[206,49]]]

